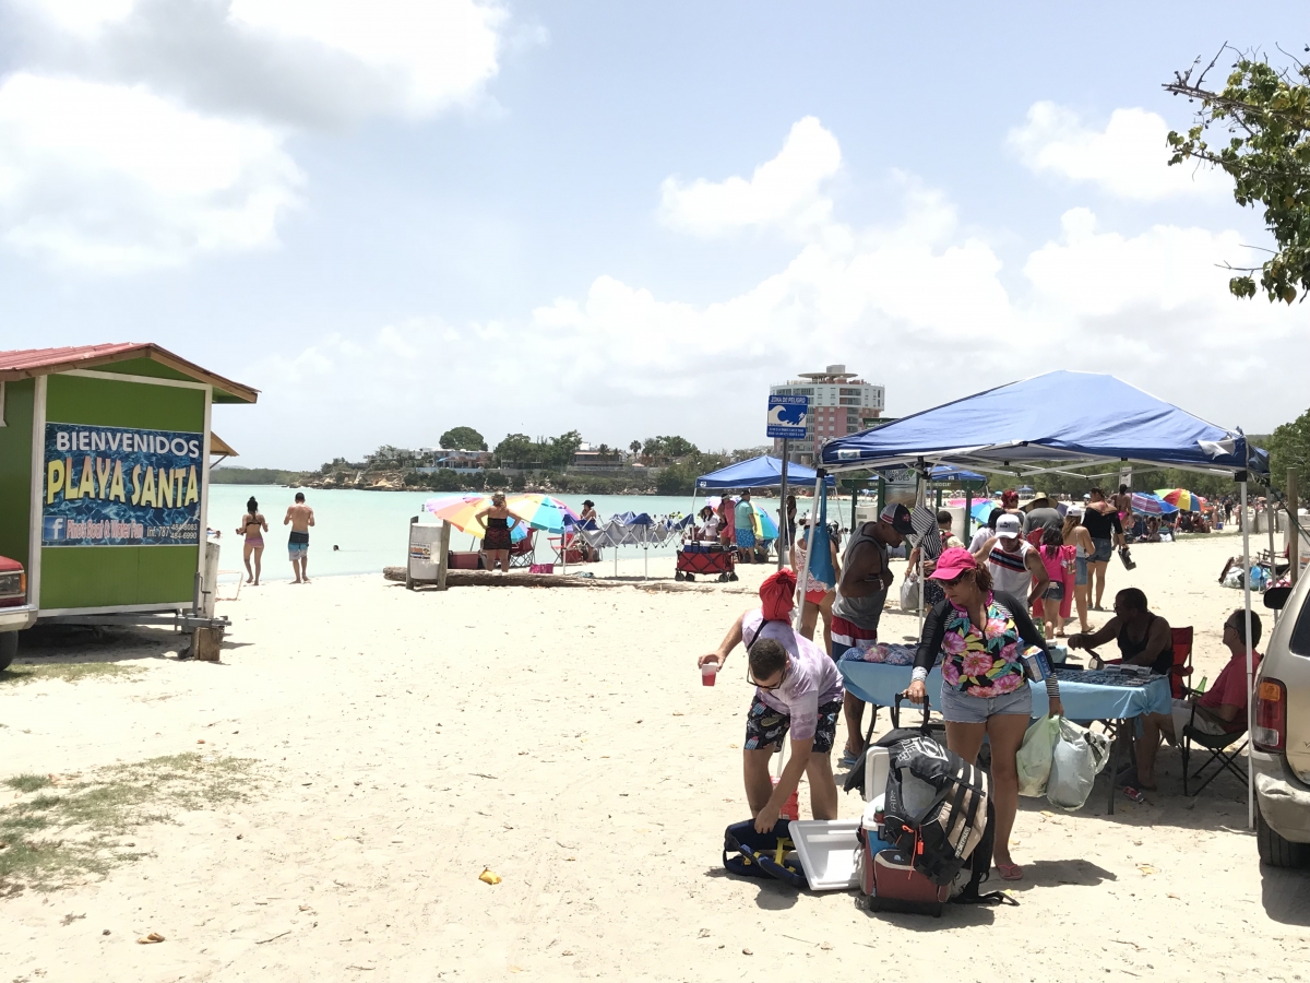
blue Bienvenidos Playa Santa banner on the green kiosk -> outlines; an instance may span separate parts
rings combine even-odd
[[[204,435],[46,423],[43,547],[194,547]]]

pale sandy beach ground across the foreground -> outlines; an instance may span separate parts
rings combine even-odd
[[[1231,535],[1137,547],[1137,570],[1110,568],[1107,606],[1114,590],[1142,587],[1171,624],[1195,625],[1196,678],[1213,680],[1221,624],[1242,599],[1216,581],[1239,548]],[[639,574],[639,554],[624,569]],[[1184,800],[1172,748],[1161,790],[1144,805],[1120,796],[1114,817],[1104,779],[1079,813],[1020,801],[1026,878],[1006,885],[1019,907],[870,915],[854,894],[726,877],[723,828],[748,817],[751,691],[740,650],[714,688],[694,662],[772,568],[740,569],[740,583],[693,588],[668,575],[651,588],[444,594],[380,573],[279,582],[220,607],[233,621],[220,665],[176,661],[181,638],[166,633],[28,649],[9,675],[33,679],[0,684],[0,779],[56,784],[0,789],[4,809],[161,756],[198,755],[198,771],[250,764],[244,798],[177,806],[122,834],[139,858],[0,898],[0,976],[1306,974],[1310,878],[1262,870],[1235,780]],[[884,616],[886,638],[913,633],[913,619]],[[41,675],[68,662],[139,671]],[[804,788],[800,801],[807,817]],[[841,796],[842,817],[861,810]],[[485,868],[500,883],[479,881]],[[165,941],[138,944],[149,932]]]

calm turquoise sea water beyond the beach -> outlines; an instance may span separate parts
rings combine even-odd
[[[241,537],[237,536],[236,528],[245,512],[246,499],[254,495],[259,502],[259,511],[269,520],[270,530],[265,536],[262,579],[290,581],[291,562],[287,560],[286,543],[291,527],[283,526],[282,519],[295,494],[295,489],[276,485],[211,485],[210,527],[223,531],[219,539],[223,547],[220,568],[236,570],[241,566]],[[305,489],[305,502],[313,507],[316,522],[309,535],[309,575],[381,573],[384,566],[400,566],[405,562],[410,516],[423,516],[423,503],[434,497],[431,492]],[[693,501],[689,497],[667,495],[559,495],[559,498],[574,511],[580,511],[583,499],[591,498],[603,520],[624,511],[685,515],[693,506],[700,509],[703,505],[703,498]],[[777,499],[772,499],[770,510],[776,509]],[[806,507],[802,506],[802,512],[804,511]],[[470,545],[473,537],[458,531],[452,533],[451,543],[455,549],[474,548]],[[334,550],[334,545],[339,549]],[[618,558],[639,560],[641,556],[639,547],[624,547]],[[652,548],[651,574],[656,573],[656,557],[668,557],[665,566],[672,574],[672,544]],[[537,558],[541,562],[553,558],[544,540],[538,540]],[[605,558],[609,558],[608,553]],[[229,578],[224,578],[227,579]]]

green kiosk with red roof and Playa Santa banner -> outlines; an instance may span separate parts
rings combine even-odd
[[[37,621],[221,632],[210,409],[257,398],[157,345],[0,351],[0,666]]]

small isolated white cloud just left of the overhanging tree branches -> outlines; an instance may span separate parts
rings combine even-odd
[[[1072,109],[1035,102],[1009,144],[1039,174],[1090,182],[1116,198],[1151,202],[1170,197],[1222,197],[1224,176],[1193,165],[1169,166],[1169,125],[1145,109],[1116,109],[1104,130],[1083,125]]]

